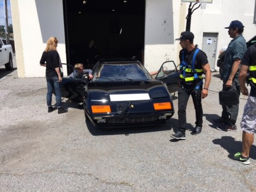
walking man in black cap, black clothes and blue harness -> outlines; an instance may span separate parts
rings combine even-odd
[[[192,95],[196,110],[196,126],[191,134],[198,135],[202,131],[202,99],[208,96],[211,71],[206,54],[193,44],[194,34],[192,32],[184,31],[176,40],[179,40],[182,46],[180,51],[180,86],[178,89],[179,129],[171,137],[186,139],[186,108],[190,95]],[[204,86],[203,73],[205,73]]]

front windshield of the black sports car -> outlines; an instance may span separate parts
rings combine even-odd
[[[93,82],[118,82],[149,80],[150,74],[137,63],[131,64],[101,64],[95,69]]]

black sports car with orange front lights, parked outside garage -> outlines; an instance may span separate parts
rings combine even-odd
[[[92,71],[92,80],[64,77],[61,92],[83,101],[85,118],[94,126],[152,125],[173,116],[167,85],[154,80],[139,61],[101,59]]]

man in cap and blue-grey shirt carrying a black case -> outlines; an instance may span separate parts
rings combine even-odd
[[[240,95],[240,84],[238,80],[238,70],[241,59],[247,50],[247,44],[242,36],[244,32],[244,25],[241,21],[231,21],[228,29],[231,42],[226,49],[226,55],[223,61],[221,79],[223,81],[222,90],[236,90]],[[220,124],[217,129],[221,131],[236,131],[236,119],[238,116],[239,104],[236,105],[222,105],[221,118],[212,119],[213,123]]]

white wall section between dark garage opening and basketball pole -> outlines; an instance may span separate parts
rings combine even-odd
[[[176,60],[179,26],[179,1],[146,1],[144,66],[148,71],[158,70],[164,61]]]

